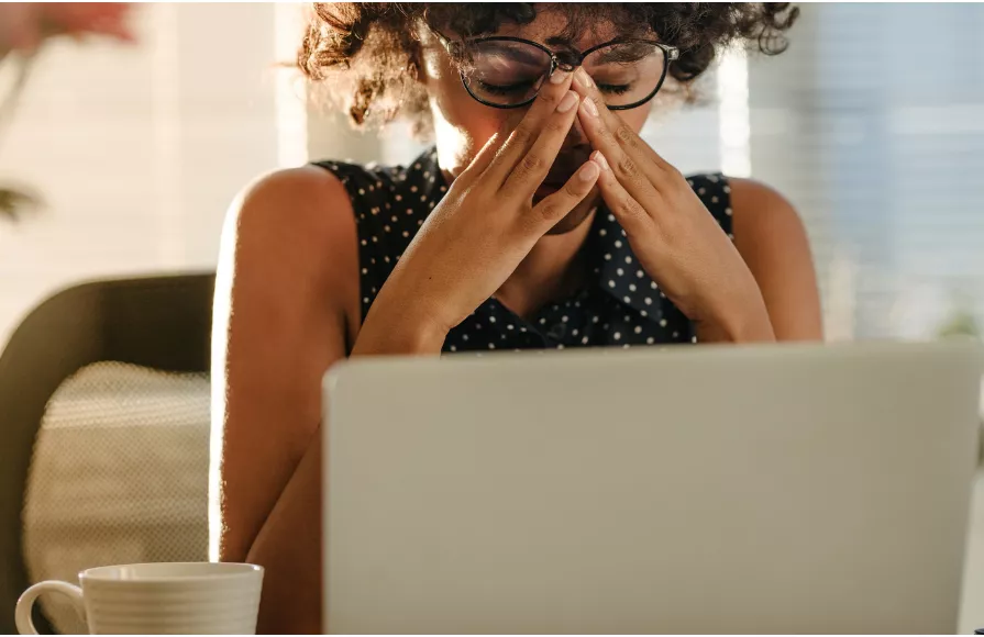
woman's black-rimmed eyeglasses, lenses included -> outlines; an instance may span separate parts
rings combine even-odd
[[[619,38],[585,52],[554,52],[530,40],[509,36],[438,40],[461,66],[462,83],[473,98],[497,109],[532,102],[543,82],[557,69],[583,67],[612,111],[641,107],[660,91],[670,63],[679,58],[675,46]]]

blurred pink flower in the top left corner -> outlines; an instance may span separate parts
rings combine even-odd
[[[125,2],[0,3],[0,57],[10,51],[33,51],[55,35],[106,35],[133,42],[125,20],[129,11]]]

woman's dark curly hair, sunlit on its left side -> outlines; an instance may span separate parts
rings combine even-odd
[[[679,58],[670,78],[686,89],[704,74],[718,53],[734,42],[748,42],[766,55],[785,51],[785,31],[799,14],[783,3],[646,2],[562,4],[317,2],[297,65],[310,80],[331,80],[332,96],[353,124],[388,123],[411,116],[418,132],[427,128],[427,96],[420,75],[421,23],[463,38],[486,35],[504,23],[529,24],[538,11],[563,11],[562,37],[574,40],[601,23],[623,34],[655,33],[676,46]],[[688,98],[690,96],[688,94]]]

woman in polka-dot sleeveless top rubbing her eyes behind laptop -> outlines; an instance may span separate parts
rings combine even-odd
[[[820,337],[776,192],[689,180],[638,133],[721,47],[796,12],[728,4],[323,4],[300,66],[356,123],[433,131],[409,167],[252,185],[215,301],[221,558],[267,569],[261,629],[320,630],[320,381],[346,356]]]

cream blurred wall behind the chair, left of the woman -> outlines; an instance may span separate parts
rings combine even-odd
[[[303,160],[283,152],[277,125],[276,49],[298,42],[283,13],[143,4],[136,46],[59,42],[43,53],[0,136],[0,182],[34,186],[48,203],[0,223],[0,343],[81,279],[214,267],[233,194],[278,158]],[[291,134],[303,135],[300,124]]]

